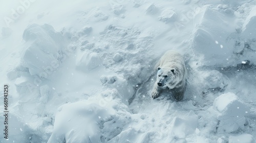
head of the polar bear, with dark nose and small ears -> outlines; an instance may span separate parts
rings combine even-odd
[[[177,85],[177,71],[175,68],[157,67],[157,85],[161,88],[173,89]]]

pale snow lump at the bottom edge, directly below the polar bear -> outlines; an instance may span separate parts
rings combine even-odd
[[[195,133],[198,115],[190,111],[183,118],[176,116],[170,126],[170,134],[166,142],[184,142],[187,135]]]

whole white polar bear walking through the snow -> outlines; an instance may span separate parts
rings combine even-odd
[[[183,56],[173,50],[167,51],[156,67],[157,81],[152,91],[152,98],[158,98],[163,89],[168,87],[177,101],[182,100],[187,77]]]

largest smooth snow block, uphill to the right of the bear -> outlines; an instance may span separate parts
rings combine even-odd
[[[234,41],[229,36],[236,32],[231,21],[229,15],[207,7],[194,17],[192,48],[204,55],[206,65],[221,64],[231,57]]]

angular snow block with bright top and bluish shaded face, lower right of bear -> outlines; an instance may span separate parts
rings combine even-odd
[[[221,94],[214,100],[214,108],[219,111],[217,116],[220,121],[219,130],[231,133],[239,128],[244,129],[245,116],[249,115],[250,109],[236,94],[231,92]]]

